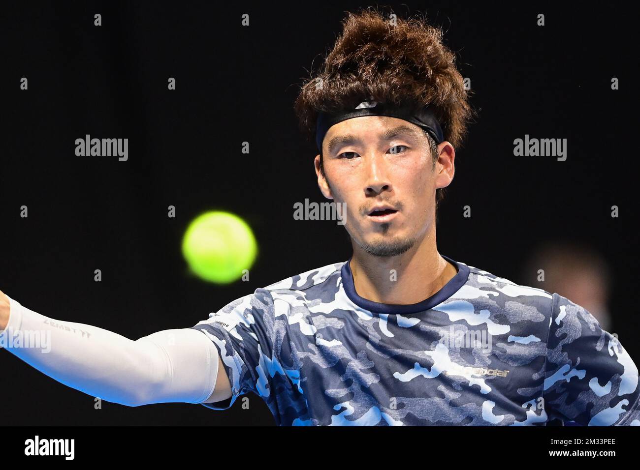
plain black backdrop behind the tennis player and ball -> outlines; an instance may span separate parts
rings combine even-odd
[[[348,259],[344,228],[292,217],[294,203],[324,201],[314,144],[301,137],[292,104],[343,12],[371,4],[3,5],[0,289],[47,317],[136,339],[190,327],[255,288]],[[614,3],[387,4],[442,26],[479,109],[438,215],[440,253],[517,283],[541,242],[594,247],[614,275],[611,331],[637,363],[634,16]],[[536,26],[538,13],[546,26]],[[177,90],[167,90],[168,77]],[[129,138],[129,160],[77,157],[74,141],[85,134]],[[525,134],[568,139],[567,160],[515,157],[513,140]],[[167,217],[169,205],[177,217]],[[260,253],[248,282],[216,286],[188,273],[182,234],[214,209],[255,231]],[[92,396],[8,352],[0,352],[0,403],[3,424],[15,425],[273,424],[255,395],[248,411],[108,402],[94,410]]]

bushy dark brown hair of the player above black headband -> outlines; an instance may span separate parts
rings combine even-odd
[[[372,96],[399,105],[431,104],[445,140],[456,149],[461,146],[476,112],[468,103],[470,91],[465,90],[456,58],[442,43],[442,30],[425,19],[393,14],[385,18],[374,7],[347,12],[332,51],[321,70],[303,82],[294,104],[307,139],[314,140],[319,111],[353,109]],[[434,153],[435,141],[426,131],[425,135]],[[435,153],[433,157],[435,164]],[[321,171],[324,175],[322,153]],[[443,189],[436,190],[436,205],[444,197]]]

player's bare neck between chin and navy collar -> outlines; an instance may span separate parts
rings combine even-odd
[[[415,304],[456,276],[456,267],[438,253],[435,230],[397,256],[373,256],[353,245],[349,267],[356,293],[373,302]]]

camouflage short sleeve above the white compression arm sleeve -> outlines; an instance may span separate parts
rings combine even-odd
[[[267,362],[273,357],[274,317],[271,293],[259,288],[191,327],[207,335],[218,349],[232,392],[227,400],[202,405],[225,410],[249,391],[269,395]]]

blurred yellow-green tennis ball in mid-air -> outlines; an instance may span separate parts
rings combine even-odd
[[[189,224],[182,239],[182,255],[196,276],[219,284],[241,278],[258,253],[253,232],[229,212],[205,212]]]

